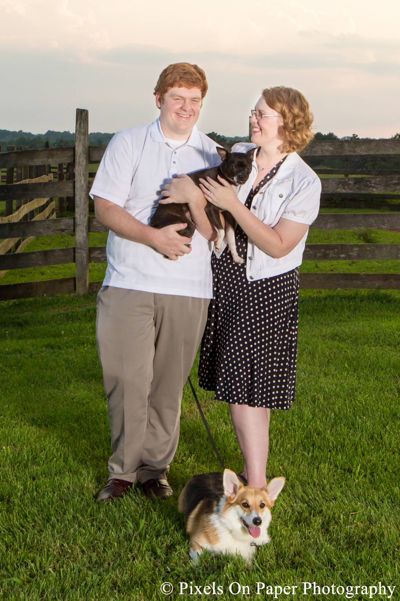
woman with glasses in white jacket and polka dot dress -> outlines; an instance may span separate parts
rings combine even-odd
[[[200,386],[229,403],[243,454],[243,483],[266,484],[270,409],[294,401],[299,265],[309,225],[318,215],[321,184],[296,154],[312,138],[305,97],[283,86],[267,88],[251,111],[252,172],[233,188],[202,180],[210,203],[237,222],[235,264],[222,247],[213,254],[213,300],[201,343]]]

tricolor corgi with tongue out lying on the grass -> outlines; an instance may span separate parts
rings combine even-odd
[[[193,563],[204,550],[212,555],[240,554],[251,563],[255,549],[269,542],[270,508],[284,485],[285,478],[279,477],[262,489],[243,486],[230,469],[193,476],[178,501]]]

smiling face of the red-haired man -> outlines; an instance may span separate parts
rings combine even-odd
[[[199,88],[170,88],[164,94],[156,94],[155,102],[160,109],[160,124],[166,138],[186,140],[199,119],[201,90]]]

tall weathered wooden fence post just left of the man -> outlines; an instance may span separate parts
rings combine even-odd
[[[76,293],[89,291],[89,111],[76,109],[75,127]]]

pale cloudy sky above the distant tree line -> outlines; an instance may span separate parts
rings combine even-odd
[[[398,0],[0,0],[0,129],[91,132],[157,118],[160,72],[206,72],[201,131],[245,136],[263,88],[300,90],[315,131],[400,132]]]

